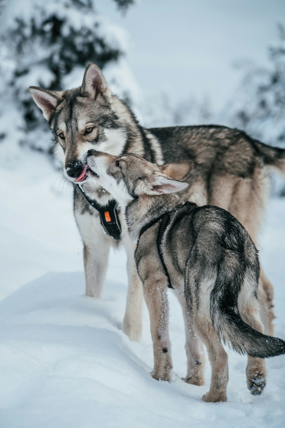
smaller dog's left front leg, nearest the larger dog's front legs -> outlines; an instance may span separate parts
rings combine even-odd
[[[168,333],[167,278],[149,278],[144,282],[144,298],[150,314],[150,333],[153,340],[154,379],[170,380],[172,359]]]

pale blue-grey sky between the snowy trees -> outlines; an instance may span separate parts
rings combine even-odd
[[[285,22],[285,0],[139,0],[125,17],[112,0],[98,12],[130,34],[127,61],[143,91],[188,94],[223,107],[240,81],[238,60],[267,64],[267,46]]]

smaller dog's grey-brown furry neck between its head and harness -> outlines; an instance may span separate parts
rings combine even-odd
[[[147,223],[167,212],[174,211],[183,202],[174,193],[164,193],[158,196],[142,195],[133,199],[125,208],[126,223],[131,239],[137,241],[141,229]]]

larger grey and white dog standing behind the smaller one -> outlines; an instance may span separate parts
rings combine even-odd
[[[57,92],[31,86],[29,90],[49,122],[54,155],[62,161],[65,177],[74,184],[74,214],[84,244],[87,295],[100,297],[110,247],[118,247],[121,242],[126,248],[129,288],[123,326],[131,340],[139,340],[141,335],[143,302],[134,262],[135,245],[127,233],[122,212],[117,212],[122,229],[120,241],[103,230],[97,208],[108,206],[113,197],[93,180],[86,161],[89,149],[113,155],[132,152],[158,165],[193,160],[190,184],[179,195],[200,206],[210,204],[226,209],[257,243],[267,203],[268,172],[285,172],[285,150],[266,146],[244,132],[223,126],[143,128],[129,107],[112,94],[100,68],[92,63],[85,70],[82,86],[76,89]],[[265,331],[273,335],[273,287],[262,269],[258,297]],[[197,359],[192,354],[190,339],[187,334],[189,367]],[[185,379],[189,383],[199,382],[191,379],[190,372]]]

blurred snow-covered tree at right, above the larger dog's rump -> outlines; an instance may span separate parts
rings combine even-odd
[[[226,122],[273,145],[285,145],[285,26],[269,48],[267,68],[250,65],[233,101],[225,109]]]

